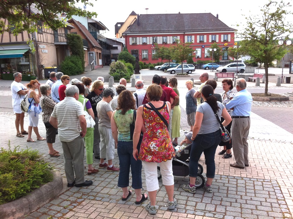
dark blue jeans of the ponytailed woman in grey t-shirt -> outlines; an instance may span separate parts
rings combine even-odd
[[[190,150],[189,176],[197,177],[198,160],[202,152],[204,152],[207,165],[207,178],[215,177],[215,153],[221,140],[220,130],[196,136]]]

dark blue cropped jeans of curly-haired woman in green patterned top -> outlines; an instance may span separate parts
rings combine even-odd
[[[137,150],[139,151],[139,147]],[[131,167],[132,188],[142,189],[142,161],[135,160],[132,152],[132,141],[118,141],[117,154],[120,163],[118,186],[121,188],[129,186],[129,172]]]

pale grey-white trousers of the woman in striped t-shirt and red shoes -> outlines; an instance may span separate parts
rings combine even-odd
[[[100,139],[100,158],[112,160],[115,154],[115,142],[112,130],[108,127],[99,126]]]

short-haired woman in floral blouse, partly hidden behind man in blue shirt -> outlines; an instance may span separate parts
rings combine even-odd
[[[226,104],[235,96],[235,93],[232,91],[233,82],[231,79],[224,79],[222,81],[222,86],[223,86],[223,90],[224,90],[224,92],[222,94],[222,101],[223,101],[224,106],[226,107]],[[232,110],[227,109],[227,112],[232,117]],[[224,118],[221,117],[221,122],[223,122],[223,121],[224,121]],[[231,125],[232,125],[232,121],[226,127],[226,130],[228,130],[229,133],[231,133]],[[232,152],[231,152],[232,140],[230,140],[229,142],[222,142],[221,141],[219,145],[224,146],[223,150],[218,153],[219,155],[223,155],[223,158],[232,157]],[[226,154],[225,154],[225,152],[226,152]]]

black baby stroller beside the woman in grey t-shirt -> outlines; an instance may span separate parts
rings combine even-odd
[[[189,144],[185,147],[180,153],[176,154],[176,156],[172,160],[172,169],[174,176],[188,176],[189,175],[189,156],[191,145]],[[173,143],[173,147],[175,148],[177,145]],[[157,167],[158,171],[158,179],[162,178],[160,167]],[[195,181],[195,187],[197,189],[201,188],[205,185],[205,178],[202,176],[203,168],[201,164],[198,164],[198,174]]]

